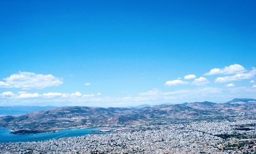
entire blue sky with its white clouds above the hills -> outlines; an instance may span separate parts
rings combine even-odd
[[[2,106],[256,98],[255,1],[0,4]]]

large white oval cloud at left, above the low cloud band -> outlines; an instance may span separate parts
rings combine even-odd
[[[36,74],[33,72],[19,72],[12,74],[0,82],[3,88],[41,89],[51,86],[59,86],[63,82],[52,74]]]

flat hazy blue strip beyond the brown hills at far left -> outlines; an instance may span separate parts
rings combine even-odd
[[[19,115],[26,114],[36,111],[56,109],[60,107],[46,106],[46,107],[37,107],[37,106],[0,106],[0,115]]]

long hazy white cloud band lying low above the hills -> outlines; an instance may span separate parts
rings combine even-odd
[[[30,105],[30,106],[91,106],[91,107],[126,107],[139,104],[162,104],[166,102],[181,103],[184,101],[214,101],[223,102],[234,97],[254,97],[256,85],[252,87],[233,87],[233,88],[215,88],[215,87],[194,87],[189,89],[180,89],[165,91],[163,89],[152,89],[138,95],[127,95],[124,97],[102,97],[96,94],[58,93],[48,92],[43,94],[20,92],[12,95],[8,92],[6,96],[0,94],[0,105]]]

